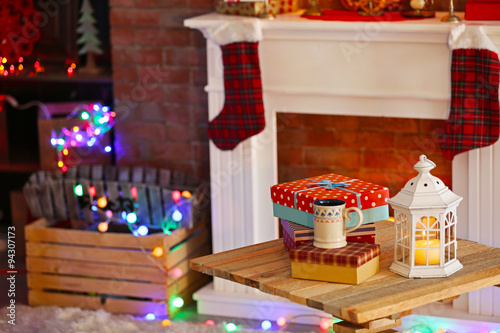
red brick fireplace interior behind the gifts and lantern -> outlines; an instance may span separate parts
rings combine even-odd
[[[451,162],[438,143],[444,121],[294,113],[277,119],[280,182],[333,172],[388,186],[392,197],[425,154],[437,164],[432,174],[451,188]]]

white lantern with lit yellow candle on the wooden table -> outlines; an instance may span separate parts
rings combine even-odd
[[[394,209],[394,262],[389,269],[409,278],[446,277],[463,266],[457,259],[457,207],[462,197],[429,173],[425,155],[418,176],[388,202]]]

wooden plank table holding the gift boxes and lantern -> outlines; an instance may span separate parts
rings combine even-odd
[[[383,269],[360,285],[291,277],[282,239],[191,260],[191,268],[325,311],[344,322],[337,333],[395,332],[401,313],[500,284],[500,248],[459,240],[464,268],[447,278],[407,279]]]

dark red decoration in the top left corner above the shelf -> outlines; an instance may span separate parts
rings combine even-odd
[[[9,61],[33,52],[46,17],[33,7],[33,0],[4,0],[0,8],[0,56]]]

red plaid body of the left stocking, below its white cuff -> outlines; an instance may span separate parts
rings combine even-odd
[[[222,45],[224,108],[208,124],[208,136],[222,150],[231,150],[261,132],[265,125],[259,42]]]

